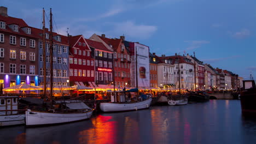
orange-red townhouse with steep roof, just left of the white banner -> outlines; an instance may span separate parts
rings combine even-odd
[[[113,51],[113,69],[115,86],[118,88],[131,87],[130,80],[130,52],[124,44],[125,37],[120,39],[106,38],[105,34],[92,35],[92,40],[103,43],[109,50]]]

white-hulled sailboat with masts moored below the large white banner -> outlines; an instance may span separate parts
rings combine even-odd
[[[135,50],[136,76],[138,76],[137,49],[135,48]],[[130,92],[137,93],[136,100],[126,98],[126,93]],[[114,90],[114,102],[101,103],[100,108],[103,112],[122,112],[148,109],[152,101],[152,97],[150,95],[140,95],[140,97],[138,97],[138,78],[136,79],[136,88],[130,89],[128,91],[120,91],[118,93],[119,94],[117,95]]]

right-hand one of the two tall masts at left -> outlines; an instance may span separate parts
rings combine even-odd
[[[53,106],[53,14],[50,8],[50,102]]]

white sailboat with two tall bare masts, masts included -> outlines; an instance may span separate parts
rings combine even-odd
[[[44,25],[44,9],[43,9],[43,57],[44,57],[44,96],[46,97],[46,72],[45,72],[45,25]],[[93,109],[85,105],[82,101],[60,101],[56,103],[53,100],[53,26],[52,13],[50,9],[50,101],[45,101],[46,110],[30,110],[26,111],[26,125],[52,125],[62,124],[74,121],[81,121],[91,117]]]

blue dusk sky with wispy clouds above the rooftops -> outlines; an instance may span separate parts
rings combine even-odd
[[[54,31],[62,35],[124,35],[156,55],[195,52],[214,68],[246,80],[252,71],[256,79],[255,0],[1,0],[1,6],[37,28],[42,28],[42,8],[46,20],[52,8]]]

